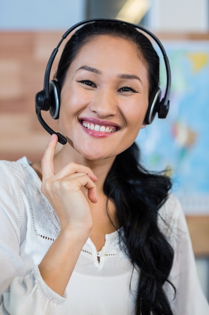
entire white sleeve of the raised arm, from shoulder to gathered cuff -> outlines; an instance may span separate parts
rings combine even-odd
[[[62,315],[65,297],[47,286],[37,265],[27,272],[19,255],[27,200],[14,173],[0,163],[0,315]]]

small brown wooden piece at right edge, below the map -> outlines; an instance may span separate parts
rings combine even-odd
[[[195,256],[209,256],[209,216],[186,216]]]

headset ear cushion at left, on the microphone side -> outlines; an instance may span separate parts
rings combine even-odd
[[[52,80],[49,83],[49,91],[50,91],[50,115],[54,119],[59,118],[60,113],[60,85],[57,81]]]

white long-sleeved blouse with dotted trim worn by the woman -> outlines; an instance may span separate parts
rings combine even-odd
[[[138,275],[119,247],[118,232],[106,235],[100,252],[87,240],[65,296],[60,296],[38,268],[60,231],[59,219],[41,193],[41,181],[26,157],[0,161],[0,174],[0,314],[134,314]],[[175,252],[169,277],[175,299],[171,286],[164,285],[173,314],[208,315],[185,218],[172,195],[159,210],[158,225]]]

